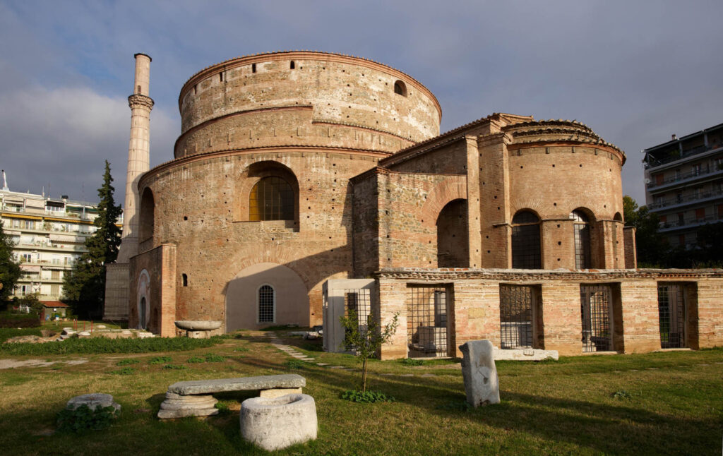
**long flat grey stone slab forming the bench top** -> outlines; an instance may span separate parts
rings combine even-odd
[[[168,387],[168,392],[174,392],[178,395],[210,395],[215,392],[225,391],[273,390],[275,388],[302,388],[305,386],[307,386],[307,379],[304,379],[301,375],[283,374],[176,382]]]

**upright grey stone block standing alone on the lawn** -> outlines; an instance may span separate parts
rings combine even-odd
[[[474,407],[500,402],[500,382],[494,346],[489,340],[470,340],[459,346],[467,402]]]

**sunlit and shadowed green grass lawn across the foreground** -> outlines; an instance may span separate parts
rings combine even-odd
[[[222,413],[205,420],[155,414],[174,382],[294,372],[316,400],[319,438],[281,454],[721,454],[723,349],[500,361],[502,403],[469,410],[454,361],[371,361],[369,387],[396,400],[350,403],[341,394],[359,380],[355,358],[278,334],[317,362],[351,369],[299,369],[262,332],[183,352],[35,357],[56,362],[0,370],[0,453],[262,454],[239,436],[239,406],[253,392],[216,395]],[[119,420],[104,431],[54,433],[67,400],[89,392],[114,395]]]

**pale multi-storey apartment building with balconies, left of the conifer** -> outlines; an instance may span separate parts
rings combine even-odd
[[[97,216],[90,202],[0,189],[0,223],[16,244],[14,254],[22,269],[14,296],[39,293],[40,301],[59,300],[63,276],[85,251]]]

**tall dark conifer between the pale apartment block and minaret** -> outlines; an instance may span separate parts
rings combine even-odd
[[[78,315],[98,317],[103,314],[106,297],[106,264],[118,257],[121,244],[121,230],[116,225],[121,215],[121,205],[113,197],[111,165],[106,160],[103,185],[98,189],[98,217],[95,218],[95,233],[85,240],[85,253],[73,264],[63,281],[64,298],[69,301]]]

